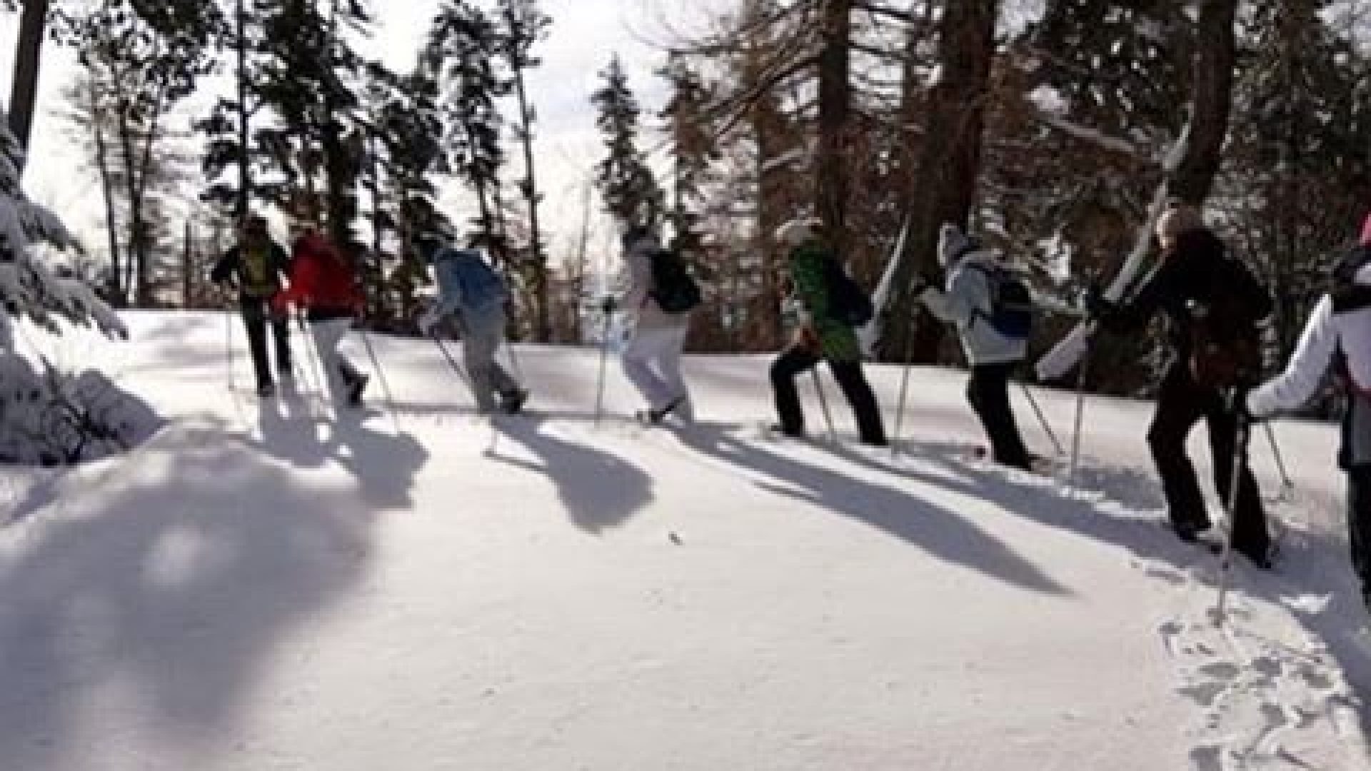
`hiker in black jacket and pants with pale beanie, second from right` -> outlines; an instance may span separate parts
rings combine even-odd
[[[1109,331],[1137,331],[1161,311],[1167,321],[1167,362],[1157,409],[1148,429],[1148,446],[1161,476],[1171,524],[1182,541],[1193,542],[1209,528],[1204,495],[1186,455],[1186,436],[1204,418],[1209,428],[1213,480],[1228,502],[1235,460],[1241,398],[1260,376],[1257,362],[1235,362],[1206,355],[1211,348],[1259,351],[1259,322],[1271,314],[1265,288],[1223,241],[1204,225],[1194,209],[1176,204],[1157,221],[1161,262],[1134,298],[1113,306],[1094,295],[1091,314]],[[1222,324],[1220,324],[1222,321]],[[1215,332],[1223,329],[1222,335]],[[1241,460],[1234,549],[1259,567],[1270,567],[1271,542],[1256,479]]]

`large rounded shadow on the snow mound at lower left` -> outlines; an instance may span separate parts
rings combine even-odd
[[[7,768],[77,768],[77,748],[129,731],[195,757],[282,641],[366,572],[365,502],[298,483],[222,425],[178,424],[62,484],[0,562]]]

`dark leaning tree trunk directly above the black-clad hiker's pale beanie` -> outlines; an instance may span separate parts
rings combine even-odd
[[[1204,0],[1196,22],[1191,60],[1190,128],[1183,152],[1167,176],[1167,192],[1200,206],[1209,196],[1223,161],[1233,110],[1233,70],[1238,43],[1233,32],[1238,0]]]

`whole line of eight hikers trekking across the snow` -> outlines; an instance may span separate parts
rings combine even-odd
[[[292,236],[288,254],[271,241],[265,218],[245,218],[239,244],[214,266],[211,278],[237,285],[260,395],[270,396],[276,388],[267,362],[269,327],[276,372],[291,376],[287,320],[293,307],[308,321],[336,403],[361,406],[367,376],[340,353],[340,340],[362,310],[356,272],[310,224],[292,225]],[[1348,473],[1352,562],[1371,608],[1371,215],[1359,247],[1333,272],[1331,288],[1316,305],[1287,368],[1264,384],[1261,325],[1272,313],[1265,287],[1189,204],[1169,204],[1154,236],[1160,259],[1138,287],[1117,302],[1091,289],[1083,311],[1091,331],[1108,333],[1139,333],[1158,314],[1165,321],[1167,359],[1146,440],[1175,535],[1196,542],[1212,527],[1186,453],[1187,436],[1204,420],[1213,483],[1231,508],[1230,543],[1253,565],[1271,567],[1275,549],[1246,458],[1249,429],[1301,406],[1324,375],[1335,372],[1349,395],[1339,462]],[[771,366],[776,431],[805,435],[797,379],[825,362],[853,410],[860,442],[887,446],[857,331],[871,320],[869,299],[853,299],[854,284],[817,221],[786,222],[775,239],[787,250],[790,299],[798,310],[794,339]],[[520,412],[529,391],[496,357],[505,343],[505,281],[480,250],[457,246],[451,232],[428,232],[415,241],[437,284],[436,300],[418,318],[420,331],[440,346],[447,336],[461,337],[480,413]],[[681,353],[699,289],[681,255],[664,248],[653,228],[628,228],[622,247],[618,291],[600,309],[631,320],[621,358],[624,375],[644,403],[636,416],[650,424],[688,423],[694,405],[681,376]],[[957,225],[942,226],[938,262],[941,285],[916,278],[913,296],[956,327],[971,370],[967,401],[986,432],[990,458],[1031,471],[1032,454],[1009,399],[1009,383],[1027,355],[1031,294],[1015,278],[1010,263]]]

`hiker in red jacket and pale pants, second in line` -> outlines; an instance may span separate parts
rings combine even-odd
[[[333,398],[350,407],[362,406],[367,376],[339,351],[362,309],[356,273],[311,224],[299,229],[291,252],[291,287],[274,302],[282,313],[293,305],[306,314]]]

